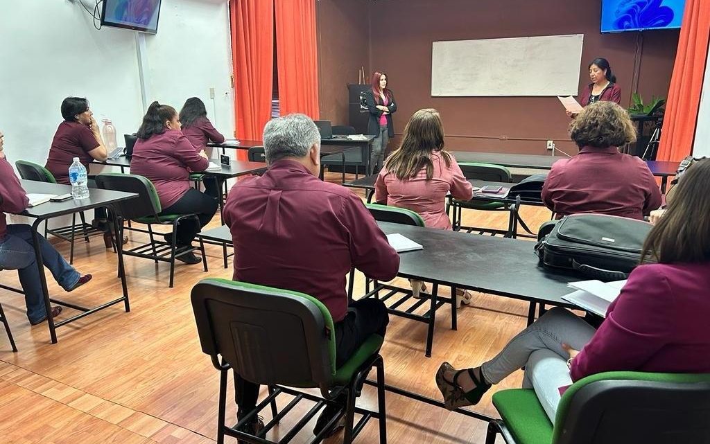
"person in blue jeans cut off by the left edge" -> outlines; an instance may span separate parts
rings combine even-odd
[[[17,270],[25,294],[27,318],[31,325],[36,326],[45,321],[47,310],[33,246],[32,227],[25,223],[8,225],[5,216],[6,212],[20,213],[27,208],[29,200],[12,165],[5,158],[3,144],[3,134],[0,133],[0,269]],[[65,291],[72,292],[91,280],[91,274],[79,274],[42,235],[38,235],[38,240],[42,262]],[[61,312],[61,306],[51,308],[53,318]]]

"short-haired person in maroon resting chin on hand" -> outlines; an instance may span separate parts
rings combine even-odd
[[[74,162],[74,157],[79,157],[79,162],[84,165],[88,174],[92,160],[105,162],[109,153],[87,99],[67,97],[62,101],[61,111],[64,121],[59,124],[54,135],[45,168],[53,174],[57,183],[70,185],[69,167]],[[97,188],[94,179],[88,180],[87,187]],[[92,224],[104,231],[106,248],[111,248],[111,223],[106,208],[94,210]],[[127,240],[124,239],[124,243]]]

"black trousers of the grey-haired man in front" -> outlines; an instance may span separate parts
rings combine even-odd
[[[334,324],[335,365],[340,367],[354,355],[356,350],[370,335],[384,337],[390,318],[387,307],[378,299],[354,301],[348,307],[345,318]],[[239,406],[238,416],[244,416],[256,407],[259,385],[242,379],[234,371],[234,400]]]

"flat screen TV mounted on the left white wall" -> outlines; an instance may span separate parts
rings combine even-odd
[[[155,34],[158,16],[160,0],[104,0],[101,24]]]

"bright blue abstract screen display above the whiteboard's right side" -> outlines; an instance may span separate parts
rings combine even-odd
[[[601,0],[601,32],[680,28],[685,0]]]

